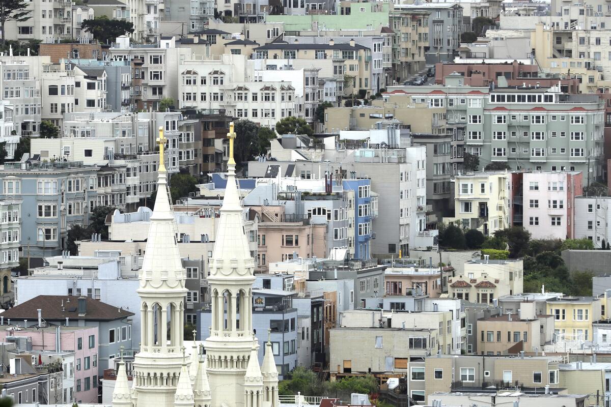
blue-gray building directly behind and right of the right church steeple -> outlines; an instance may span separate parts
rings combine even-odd
[[[282,283],[284,278],[270,278]],[[263,280],[258,280],[262,284]],[[257,281],[257,283],[258,283]],[[270,281],[270,283],[271,283]],[[257,285],[254,284],[254,286]],[[253,288],[252,327],[259,342],[258,358],[263,363],[265,343],[271,341],[279,378],[295,369],[297,364],[297,309],[293,307],[294,291]],[[211,309],[201,312],[200,337],[210,336]]]

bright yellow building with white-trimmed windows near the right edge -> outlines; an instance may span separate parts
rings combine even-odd
[[[601,319],[602,301],[596,297],[557,297],[547,300],[547,314],[554,315],[555,342],[592,340],[592,322]]]

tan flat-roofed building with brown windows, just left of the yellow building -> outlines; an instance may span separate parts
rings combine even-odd
[[[536,352],[551,342],[554,335],[552,315],[495,315],[478,320],[477,350],[480,355],[517,354]]]

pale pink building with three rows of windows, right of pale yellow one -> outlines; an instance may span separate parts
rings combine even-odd
[[[582,173],[535,171],[519,175],[522,176],[522,225],[532,239],[573,239],[575,197],[582,195]],[[520,182],[513,181],[519,188]]]

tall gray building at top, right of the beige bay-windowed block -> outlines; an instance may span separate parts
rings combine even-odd
[[[456,3],[395,4],[395,10],[426,10],[428,16],[428,51],[426,63],[454,60],[463,34],[463,7]]]

